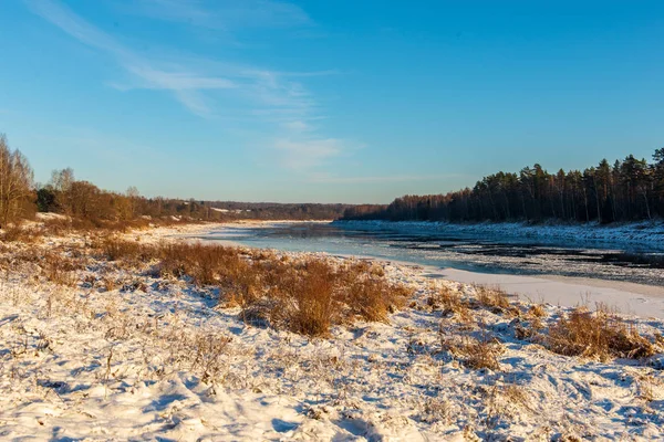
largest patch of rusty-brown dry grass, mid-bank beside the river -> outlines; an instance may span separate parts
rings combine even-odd
[[[283,260],[273,253],[200,243],[139,245],[107,238],[96,248],[111,261],[153,262],[163,277],[217,286],[220,305],[240,306],[247,323],[268,323],[308,336],[356,318],[386,322],[412,292],[387,282],[380,266],[360,261]]]

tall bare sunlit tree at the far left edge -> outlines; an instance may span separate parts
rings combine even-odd
[[[19,150],[11,150],[7,137],[0,134],[0,224],[21,215],[22,202],[32,191],[33,172]]]

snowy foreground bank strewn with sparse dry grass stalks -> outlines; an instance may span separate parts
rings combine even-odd
[[[167,240],[199,228],[133,233]],[[90,239],[11,244],[75,256]],[[334,260],[343,260],[335,257]],[[0,439],[156,441],[662,440],[664,355],[605,362],[552,354],[523,318],[479,308],[457,320],[432,293],[473,286],[381,263],[415,290],[390,324],[309,339],[239,318],[212,287],[92,261],[72,286],[35,262],[0,274]],[[108,284],[112,281],[113,284]],[[538,301],[538,299],[533,299]],[[567,312],[542,306],[544,322]],[[664,320],[626,318],[656,339]],[[450,339],[481,336],[496,369],[469,368]],[[660,348],[660,351],[662,349]]]

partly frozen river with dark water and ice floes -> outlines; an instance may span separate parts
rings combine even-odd
[[[649,245],[499,238],[459,228],[280,223],[226,228],[206,240],[295,252],[373,256],[481,273],[553,274],[664,286],[664,251]]]

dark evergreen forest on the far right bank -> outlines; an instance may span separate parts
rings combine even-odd
[[[603,159],[583,171],[549,173],[540,165],[519,173],[498,172],[446,194],[405,196],[388,206],[355,206],[346,220],[575,222],[664,218],[664,148],[653,162],[633,155],[613,165]]]

